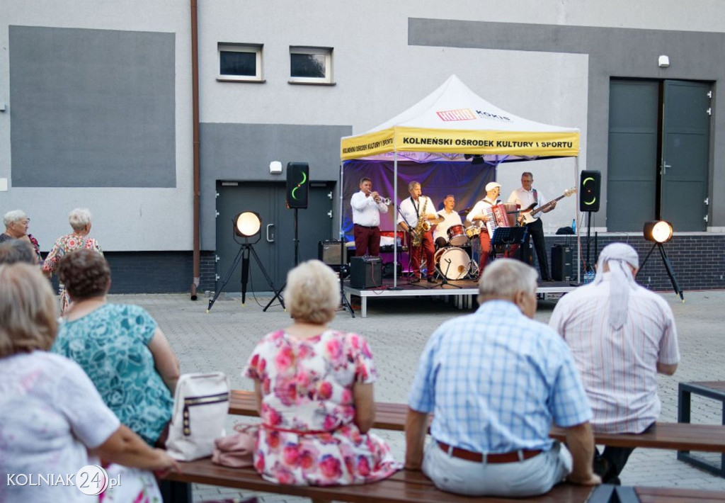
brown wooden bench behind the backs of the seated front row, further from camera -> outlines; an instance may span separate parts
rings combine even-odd
[[[376,417],[373,428],[402,431],[405,429],[405,404],[376,402]],[[257,416],[254,393],[233,390],[229,402],[229,413],[241,416]],[[563,441],[563,428],[553,427],[552,438]],[[672,449],[674,451],[725,452],[725,426],[693,425],[681,422],[657,422],[653,428],[637,435],[631,433],[595,433],[597,445],[615,447],[646,447],[649,449]]]

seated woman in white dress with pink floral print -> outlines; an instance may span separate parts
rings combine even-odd
[[[294,323],[265,335],[243,375],[254,380],[262,427],[254,467],[297,486],[361,484],[402,465],[368,433],[375,419],[376,370],[368,342],[331,330],[336,274],[320,261],[292,269],[284,298]]]

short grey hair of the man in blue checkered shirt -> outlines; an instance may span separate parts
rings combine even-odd
[[[512,298],[516,292],[536,293],[536,269],[513,258],[500,258],[486,266],[479,279],[479,303],[486,298]]]

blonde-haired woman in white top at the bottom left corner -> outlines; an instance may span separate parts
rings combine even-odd
[[[144,470],[178,469],[165,451],[120,424],[78,364],[47,351],[56,330],[55,298],[38,267],[0,265],[0,471],[65,479],[98,465],[96,456]],[[84,503],[88,496],[70,484],[18,479],[3,480],[0,501]]]

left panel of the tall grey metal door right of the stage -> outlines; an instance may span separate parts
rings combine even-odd
[[[659,83],[612,81],[609,87],[607,229],[639,231],[655,218]]]

